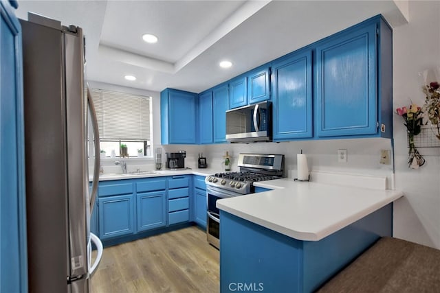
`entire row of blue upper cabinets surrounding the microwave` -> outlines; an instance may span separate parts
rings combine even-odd
[[[274,141],[390,138],[392,65],[391,28],[375,16],[200,95],[166,89],[162,143],[223,143],[225,111],[265,100]]]

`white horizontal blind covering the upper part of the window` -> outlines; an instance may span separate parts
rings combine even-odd
[[[101,140],[149,140],[150,97],[92,89]]]

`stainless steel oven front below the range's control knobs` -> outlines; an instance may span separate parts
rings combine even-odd
[[[206,239],[212,246],[220,249],[220,210],[215,206],[217,200],[242,195],[219,187],[206,185]]]

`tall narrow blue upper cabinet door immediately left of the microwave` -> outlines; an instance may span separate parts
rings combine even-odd
[[[214,143],[226,142],[226,110],[228,110],[228,84],[212,89]]]

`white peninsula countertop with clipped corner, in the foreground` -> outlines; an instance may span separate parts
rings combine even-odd
[[[217,200],[217,207],[305,241],[327,237],[404,195],[389,189],[295,182],[291,178],[254,185],[274,190]]]

